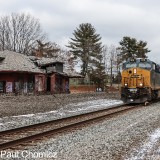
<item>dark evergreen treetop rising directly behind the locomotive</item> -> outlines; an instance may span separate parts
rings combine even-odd
[[[147,58],[146,54],[150,52],[147,46],[147,42],[137,41],[135,38],[123,37],[123,40],[119,42],[121,47],[120,55],[121,60],[127,60],[128,58]]]

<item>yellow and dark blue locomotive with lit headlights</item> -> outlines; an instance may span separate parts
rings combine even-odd
[[[160,97],[160,66],[149,59],[123,63],[121,99],[125,103],[146,103]]]

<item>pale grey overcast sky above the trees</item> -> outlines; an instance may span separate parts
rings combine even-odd
[[[103,44],[118,46],[124,36],[147,41],[160,63],[159,0],[0,0],[0,15],[30,13],[49,40],[64,47],[81,23],[91,23]]]

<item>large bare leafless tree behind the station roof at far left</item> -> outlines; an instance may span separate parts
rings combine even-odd
[[[24,13],[12,13],[0,18],[0,50],[31,54],[37,40],[44,40],[38,19]]]

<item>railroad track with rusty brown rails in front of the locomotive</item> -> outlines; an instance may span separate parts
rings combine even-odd
[[[120,105],[114,108],[108,108],[93,111],[72,117],[57,119],[44,123],[29,125],[0,132],[0,150],[16,149],[26,143],[42,140],[48,136],[68,132],[74,128],[84,127],[84,125],[93,124],[99,120],[110,118],[130,110],[144,107],[142,105]],[[27,146],[27,145],[26,145]]]

